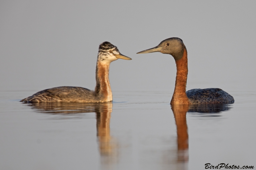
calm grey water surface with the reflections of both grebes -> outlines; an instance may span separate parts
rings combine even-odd
[[[0,169],[204,169],[256,166],[256,92],[235,103],[173,107],[171,92],[113,92],[113,103],[22,104],[0,92]],[[200,113],[199,113],[200,112]]]

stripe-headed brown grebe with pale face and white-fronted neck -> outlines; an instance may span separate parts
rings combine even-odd
[[[107,102],[112,101],[112,91],[108,79],[109,65],[118,58],[132,60],[122,55],[110,42],[100,44],[96,65],[95,91],[83,87],[62,86],[42,90],[21,100],[31,102]]]

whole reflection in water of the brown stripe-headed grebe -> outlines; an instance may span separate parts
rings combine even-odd
[[[100,151],[101,164],[106,169],[111,169],[111,165],[116,164],[118,158],[118,143],[110,136],[110,117],[112,112],[112,102],[104,103],[31,103],[28,106],[37,109],[41,113],[76,115],[79,113],[96,113],[97,137]]]

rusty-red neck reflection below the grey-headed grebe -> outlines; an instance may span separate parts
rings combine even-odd
[[[188,108],[189,108],[189,105],[172,106],[172,112],[174,114],[174,118],[177,126],[178,152],[188,150],[188,127],[187,127],[187,120],[186,120],[186,114],[188,112]],[[188,155],[186,155],[186,152],[184,152],[184,155],[179,157],[178,160],[187,161]]]

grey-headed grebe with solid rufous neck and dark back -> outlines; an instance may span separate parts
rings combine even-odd
[[[234,103],[234,98],[219,88],[192,89],[186,92],[188,54],[187,49],[180,38],[168,38],[162,41],[158,46],[140,51],[137,54],[153,52],[170,54],[176,62],[177,75],[171,105]]]

